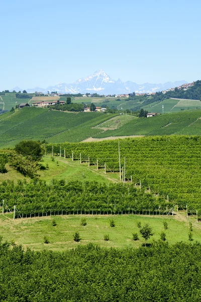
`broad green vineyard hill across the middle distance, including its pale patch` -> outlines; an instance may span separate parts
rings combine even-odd
[[[132,135],[201,135],[201,110],[186,110],[149,118],[98,112],[68,113],[28,107],[0,116],[0,146],[22,139],[77,142],[86,138]],[[110,121],[108,121],[110,120]]]

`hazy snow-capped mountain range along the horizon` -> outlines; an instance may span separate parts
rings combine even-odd
[[[136,93],[148,93],[148,92],[157,92],[162,90],[167,90],[169,88],[174,88],[182,84],[187,83],[186,81],[176,81],[176,82],[167,82],[164,84],[136,84],[131,81],[122,82],[120,79],[117,81],[110,78],[110,76],[102,69],[95,71],[92,75],[89,75],[86,78],[78,79],[72,84],[61,83],[55,86],[49,86],[46,89],[35,87],[28,88],[26,91],[28,93],[42,92],[47,93],[52,91],[57,91],[58,93],[97,93],[101,95],[113,95],[113,94],[128,94],[132,92]],[[19,87],[11,89],[11,91],[23,91]]]

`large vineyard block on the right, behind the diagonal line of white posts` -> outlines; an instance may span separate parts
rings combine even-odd
[[[47,144],[46,152],[88,161],[90,165],[119,171],[119,140],[89,143]],[[121,163],[126,160],[126,180],[150,188],[178,208],[201,214],[201,138],[199,136],[153,136],[120,140]],[[167,197],[168,196],[168,197]]]

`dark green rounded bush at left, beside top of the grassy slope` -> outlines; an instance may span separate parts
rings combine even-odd
[[[34,140],[22,140],[15,146],[18,154],[30,157],[32,161],[40,161],[43,155],[41,143]]]

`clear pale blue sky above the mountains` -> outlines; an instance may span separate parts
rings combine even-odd
[[[0,90],[100,68],[138,84],[201,80],[200,9],[195,0],[3,0]]]

